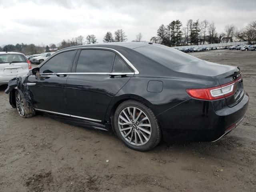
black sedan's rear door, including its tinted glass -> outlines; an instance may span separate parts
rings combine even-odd
[[[104,122],[112,98],[134,72],[110,50],[84,49],[78,57],[67,80],[68,111],[80,118]]]

